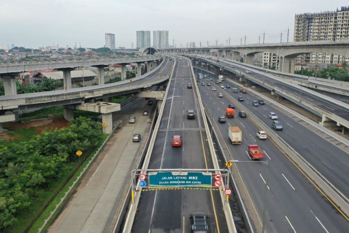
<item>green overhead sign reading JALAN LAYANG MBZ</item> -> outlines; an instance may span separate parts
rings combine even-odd
[[[150,172],[149,189],[158,188],[211,188],[209,172]]]

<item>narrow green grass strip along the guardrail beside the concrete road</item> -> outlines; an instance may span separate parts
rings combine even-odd
[[[47,208],[45,209],[45,211],[40,215],[40,217],[35,221],[35,223],[33,224],[33,226],[30,228],[30,230],[28,231],[29,233],[36,233],[38,232],[38,228],[41,227],[44,224],[45,219],[47,219],[51,212],[55,209],[56,205],[60,202],[61,198],[64,197],[65,192],[68,191],[69,187],[73,185],[73,182],[76,180],[76,177],[79,176],[79,174],[82,172],[83,168],[86,167],[87,163],[90,160],[90,157],[92,157],[98,150],[99,146],[102,145],[103,141],[108,137],[107,134],[103,135],[103,139],[102,141],[99,143],[99,145],[95,148],[94,151],[92,151],[89,155],[88,158],[81,164],[81,167],[78,168],[75,172],[75,174],[72,176],[72,178],[67,182],[67,184],[60,190],[60,192],[58,193],[58,195],[54,198],[54,200],[47,206]],[[102,148],[103,149],[103,148]],[[75,161],[75,166],[78,166],[79,161]],[[62,177],[62,179],[57,180],[55,182],[53,182],[55,189],[50,190],[50,194],[51,196],[48,196],[46,198],[46,200],[43,201],[49,201],[50,198],[52,198],[52,194],[56,193],[57,191],[59,191],[59,188],[61,187],[61,184],[64,183],[64,181],[67,179],[67,177],[69,177],[69,175],[71,174],[72,170],[69,170],[67,172],[67,174],[64,173],[65,178]],[[77,187],[77,185],[79,184],[79,182],[75,185],[74,189]],[[72,190],[72,192],[70,192],[69,196],[72,195],[72,193],[74,192],[74,189]],[[69,197],[67,197],[67,199],[65,200],[65,202],[69,199]],[[37,202],[40,203],[40,202]],[[41,203],[45,203],[45,202],[41,202]],[[43,205],[40,204],[39,207],[42,207]],[[59,214],[60,210],[63,208],[64,203],[59,207],[58,211],[54,213],[54,215],[52,216],[51,220],[49,221],[49,223],[45,226],[43,232],[46,232],[47,229],[49,228],[49,226],[52,224],[52,222],[54,221],[54,219],[57,217],[57,215]],[[38,208],[40,209],[40,208]]]

